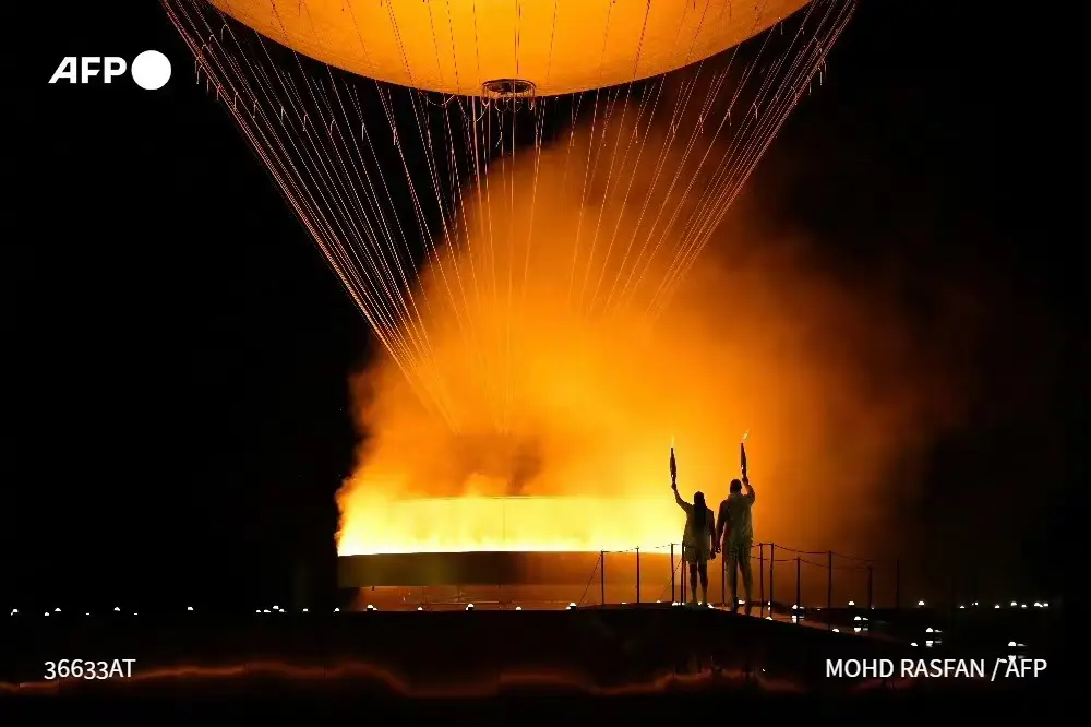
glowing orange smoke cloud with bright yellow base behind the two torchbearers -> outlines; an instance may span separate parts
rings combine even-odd
[[[353,381],[340,555],[662,547],[684,522],[672,440],[680,492],[715,509],[745,431],[757,539],[861,546],[947,408],[914,342],[879,299],[810,271],[798,241],[738,223],[649,314],[685,243],[666,221],[696,192],[654,193],[638,222],[654,155],[585,175],[590,138],[497,162],[488,198],[464,194],[449,222],[468,251],[431,260],[415,296],[432,395],[388,358]]]

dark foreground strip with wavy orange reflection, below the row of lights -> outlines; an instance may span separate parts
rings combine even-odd
[[[632,720],[647,724],[657,710],[666,710],[664,704],[679,703],[678,698],[696,704],[729,696],[736,707],[768,705],[775,699],[786,707],[783,700],[791,698],[880,705],[891,699],[924,704],[946,695],[980,698],[995,705],[998,698],[1016,694],[1022,700],[1044,696],[1063,674],[1058,657],[1041,651],[1024,654],[1050,659],[1048,671],[1038,679],[991,683],[828,678],[827,659],[992,663],[1011,649],[998,636],[995,647],[972,653],[946,646],[924,649],[712,609],[671,607],[58,615],[5,621],[0,633],[5,647],[0,699],[43,708],[73,700],[97,705],[218,700],[223,705],[223,700],[257,698],[266,705],[299,706],[317,700],[356,705],[363,712],[393,702],[403,705],[398,707],[405,710],[403,715],[446,704],[442,710],[448,718],[465,717],[476,724],[505,718],[539,724],[547,714],[555,714],[558,722],[586,722],[596,710],[609,710],[620,718],[635,708]],[[132,658],[133,678],[44,681],[44,662],[65,657]],[[583,706],[574,714],[556,714],[565,702]],[[614,706],[602,706],[606,703]],[[633,706],[642,703],[645,706]],[[528,704],[547,705],[541,707],[547,711],[535,707],[528,715]]]

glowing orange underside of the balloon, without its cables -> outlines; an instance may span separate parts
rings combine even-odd
[[[807,0],[209,0],[262,35],[346,71],[481,95],[540,96],[659,75],[726,50]]]

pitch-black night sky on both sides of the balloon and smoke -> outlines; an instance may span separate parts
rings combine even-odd
[[[250,604],[286,593],[292,553],[320,583],[331,572],[368,329],[194,85],[158,3],[139,4],[38,21],[51,32],[12,71],[5,608]],[[839,274],[894,265],[921,307],[943,282],[975,282],[991,324],[971,426],[937,448],[904,517],[1054,593],[1086,353],[1082,82],[1063,37],[1080,24],[1056,25],[997,3],[865,0],[748,192]],[[46,83],[63,56],[147,48],[173,64],[160,92]]]

